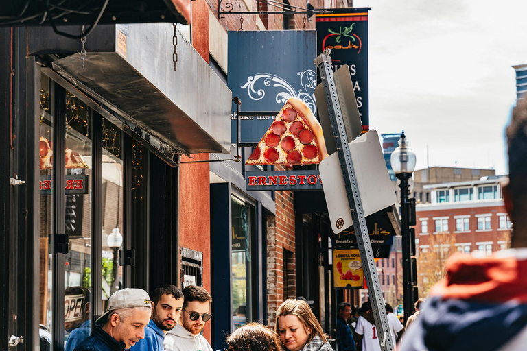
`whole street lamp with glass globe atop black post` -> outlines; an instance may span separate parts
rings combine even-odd
[[[412,236],[410,235],[410,213],[412,212],[412,203],[410,202],[410,184],[408,180],[412,178],[415,169],[415,154],[408,147],[408,141],[403,133],[399,139],[397,147],[390,156],[390,163],[395,172],[395,176],[401,180],[401,234],[403,236],[403,306],[404,321],[414,313],[414,297],[412,282],[412,258],[410,250],[412,247]],[[414,220],[414,219],[413,219]],[[412,221],[413,221],[412,220]],[[415,273],[414,273],[415,274]]]

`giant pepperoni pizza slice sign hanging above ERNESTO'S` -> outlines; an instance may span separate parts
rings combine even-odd
[[[288,99],[246,165],[311,165],[326,158],[322,127],[301,99]]]

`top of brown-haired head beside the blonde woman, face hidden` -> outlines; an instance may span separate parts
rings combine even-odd
[[[280,339],[273,330],[259,324],[248,323],[237,328],[227,337],[228,350],[280,351]]]

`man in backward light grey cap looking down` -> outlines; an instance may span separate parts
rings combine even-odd
[[[142,289],[122,289],[108,300],[106,312],[97,319],[90,337],[75,351],[122,351],[145,337],[152,303]]]

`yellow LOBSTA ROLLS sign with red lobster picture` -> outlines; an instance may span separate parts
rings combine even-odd
[[[333,281],[336,288],[362,288],[364,272],[358,249],[333,250]]]

